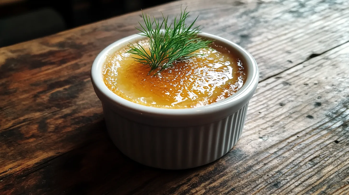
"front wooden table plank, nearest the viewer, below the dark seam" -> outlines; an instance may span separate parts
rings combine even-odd
[[[346,194],[348,60],[346,43],[261,82],[242,138],[210,165],[184,171],[151,169],[120,154],[105,130],[96,130],[104,126],[86,125],[91,128],[90,142],[2,179],[0,192]],[[64,120],[51,122],[59,125]]]

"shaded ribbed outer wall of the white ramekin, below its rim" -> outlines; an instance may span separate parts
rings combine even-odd
[[[124,118],[108,106],[103,110],[109,135],[126,156],[152,167],[187,169],[215,161],[236,144],[247,104],[216,122],[189,127],[150,126]]]

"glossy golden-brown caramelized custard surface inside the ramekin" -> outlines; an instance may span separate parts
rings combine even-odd
[[[149,41],[138,42],[149,50]],[[154,75],[136,62],[126,46],[109,55],[103,68],[105,85],[115,94],[138,104],[158,108],[193,108],[218,102],[244,84],[244,64],[233,52],[215,43],[200,53]]]

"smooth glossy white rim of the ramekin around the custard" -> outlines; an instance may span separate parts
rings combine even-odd
[[[105,85],[102,77],[102,68],[104,66],[106,56],[109,55],[109,52],[111,52],[111,50],[113,50],[114,48],[122,44],[125,44],[126,42],[131,42],[132,40],[139,38],[140,36],[141,35],[139,34],[133,34],[131,36],[128,36],[113,42],[112,44],[104,48],[97,55],[91,67],[91,81],[92,81],[92,85],[94,85],[95,90],[97,88],[100,94],[104,96],[104,98],[107,98],[108,100],[118,104],[121,107],[124,107],[129,111],[138,112],[140,114],[154,114],[154,115],[166,115],[166,116],[176,116],[176,115],[190,116],[190,115],[197,115],[202,113],[211,114],[211,113],[219,112],[223,109],[226,109],[227,107],[242,107],[243,105],[234,105],[234,103],[239,102],[238,100],[248,96],[250,93],[254,93],[254,90],[257,87],[258,78],[259,78],[258,66],[250,53],[248,53],[244,48],[233,43],[232,41],[229,41],[222,37],[215,36],[213,34],[201,32],[200,36],[208,39],[223,41],[225,44],[239,51],[240,55],[243,56],[245,63],[247,65],[247,78],[242,88],[240,88],[235,94],[229,96],[224,100],[221,100],[212,104],[208,104],[205,106],[200,106],[195,108],[182,108],[182,109],[157,108],[157,107],[144,106],[135,102],[131,102],[124,98],[121,98],[120,96],[113,93]]]

